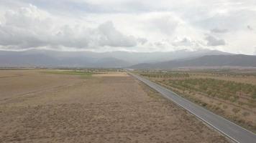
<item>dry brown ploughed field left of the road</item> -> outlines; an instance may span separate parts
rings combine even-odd
[[[0,70],[0,127],[0,142],[228,142],[120,72]]]

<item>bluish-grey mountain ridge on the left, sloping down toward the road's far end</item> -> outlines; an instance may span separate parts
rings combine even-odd
[[[48,52],[48,51],[47,51]],[[0,66],[43,66],[43,67],[123,67],[127,61],[116,58],[93,58],[58,51],[32,53],[31,51],[0,51]]]

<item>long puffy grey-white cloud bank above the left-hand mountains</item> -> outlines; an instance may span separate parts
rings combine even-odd
[[[97,46],[130,47],[142,42],[142,39],[122,34],[111,21],[96,28],[83,25],[53,26],[52,18],[31,4],[17,11],[6,11],[5,19],[5,23],[0,24],[0,44],[14,49],[38,46],[84,49]]]

